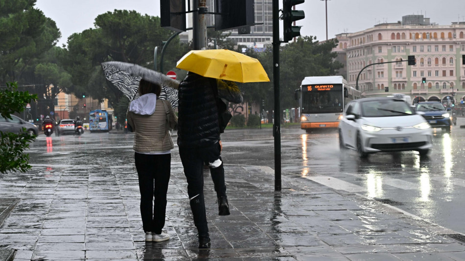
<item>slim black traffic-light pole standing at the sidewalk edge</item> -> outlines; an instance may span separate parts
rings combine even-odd
[[[273,87],[275,112],[273,137],[275,138],[275,191],[281,191],[281,105],[279,97],[279,2],[273,0]]]

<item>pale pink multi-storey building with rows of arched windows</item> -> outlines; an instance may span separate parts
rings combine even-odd
[[[410,95],[412,100],[460,101],[465,96],[465,22],[438,25],[422,15],[410,15],[344,38],[337,48],[346,51],[347,80],[356,86],[358,77],[364,96],[386,96],[386,91]],[[409,55],[415,55],[415,66],[407,65]],[[368,66],[384,62],[392,63]]]

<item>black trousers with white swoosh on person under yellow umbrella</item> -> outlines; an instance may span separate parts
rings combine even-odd
[[[194,224],[197,227],[199,235],[207,235],[209,230],[204,200],[204,164],[211,163],[220,157],[220,144],[215,143],[211,146],[201,148],[179,147],[179,156],[181,157],[184,174],[186,175],[187,194],[190,199],[190,209],[194,217]],[[223,164],[217,168],[216,171],[211,172],[213,182],[215,183],[215,190],[218,189],[220,193],[226,195]]]

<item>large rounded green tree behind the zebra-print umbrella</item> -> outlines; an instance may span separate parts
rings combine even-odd
[[[95,28],[68,38],[63,64],[71,74],[72,92],[85,92],[100,100],[108,98],[115,107],[125,101],[121,99],[122,93],[106,82],[100,64],[122,61],[152,69],[154,47],[161,46],[173,32],[160,26],[159,17],[127,10],[98,15],[94,24]],[[163,64],[165,68],[173,68],[186,53],[187,45],[180,44],[176,37],[165,51]]]

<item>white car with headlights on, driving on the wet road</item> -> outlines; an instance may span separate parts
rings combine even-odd
[[[375,152],[416,150],[426,155],[433,131],[404,100],[363,98],[350,102],[339,122],[339,146],[357,151],[360,158]]]

